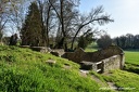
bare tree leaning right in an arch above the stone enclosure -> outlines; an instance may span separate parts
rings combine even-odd
[[[73,49],[75,39],[84,27],[90,24],[93,26],[97,23],[99,25],[104,25],[106,23],[113,22],[113,19],[110,18],[110,15],[106,15],[103,12],[104,12],[103,6],[98,6],[97,9],[92,9],[91,12],[87,16],[85,15],[79,16],[78,23],[77,23],[77,30],[72,40],[71,49]]]

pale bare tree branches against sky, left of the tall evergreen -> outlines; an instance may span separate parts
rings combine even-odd
[[[1,39],[7,29],[10,30],[11,25],[20,31],[22,26],[21,18],[24,10],[21,11],[22,2],[25,0],[1,0],[0,1],[0,34]],[[8,25],[7,25],[8,24]],[[7,28],[7,29],[4,29]]]

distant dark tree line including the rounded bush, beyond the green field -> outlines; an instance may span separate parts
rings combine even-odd
[[[123,35],[116,38],[111,38],[110,35],[103,35],[97,39],[99,48],[106,48],[109,45],[118,45],[122,49],[139,49],[139,35]]]

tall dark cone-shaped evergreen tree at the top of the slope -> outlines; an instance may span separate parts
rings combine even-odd
[[[22,45],[42,45],[42,24],[40,11],[36,2],[29,6],[28,15],[21,30]]]

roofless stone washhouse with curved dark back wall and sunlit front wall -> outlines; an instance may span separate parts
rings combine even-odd
[[[125,64],[124,52],[116,45],[96,52],[85,52],[83,49],[77,49],[75,52],[65,52],[62,57],[80,64],[83,69],[92,69],[97,73],[123,69]]]

